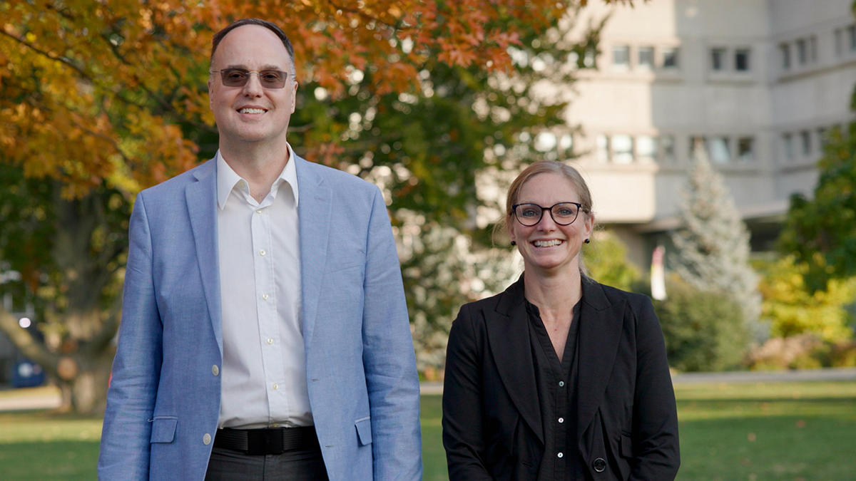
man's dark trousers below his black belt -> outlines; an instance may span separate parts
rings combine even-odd
[[[205,481],[327,481],[321,449],[253,456],[212,448]]]

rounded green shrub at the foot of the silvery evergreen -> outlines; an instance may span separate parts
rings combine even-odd
[[[679,371],[726,371],[740,367],[747,334],[737,301],[727,294],[669,279],[669,297],[654,301],[669,365]]]

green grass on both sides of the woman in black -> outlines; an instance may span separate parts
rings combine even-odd
[[[856,480],[856,382],[679,384],[679,481]],[[444,479],[440,396],[422,398],[425,479]]]

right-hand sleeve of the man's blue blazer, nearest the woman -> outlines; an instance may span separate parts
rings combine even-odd
[[[363,364],[372,414],[375,479],[422,478],[419,375],[401,267],[377,187],[366,245]]]

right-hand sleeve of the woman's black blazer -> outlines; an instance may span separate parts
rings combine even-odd
[[[663,331],[654,306],[639,296],[636,326],[636,389],[633,394],[633,464],[630,479],[675,479],[681,465],[675,390]]]

